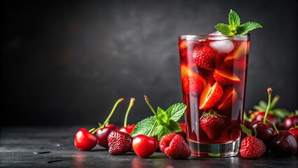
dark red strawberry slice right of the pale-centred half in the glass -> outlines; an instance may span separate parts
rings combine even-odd
[[[227,87],[224,89],[224,93],[220,102],[218,102],[218,110],[227,110],[234,106],[237,102],[238,95],[234,87]]]

